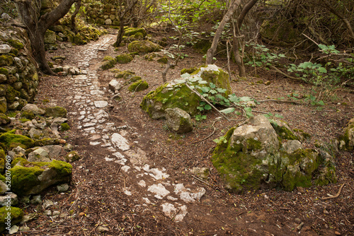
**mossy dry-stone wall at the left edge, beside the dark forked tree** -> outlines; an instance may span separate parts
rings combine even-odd
[[[0,19],[0,113],[21,110],[37,94],[38,74],[25,30]]]

